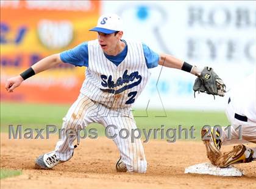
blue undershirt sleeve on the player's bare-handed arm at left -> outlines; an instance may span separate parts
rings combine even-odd
[[[74,66],[88,67],[88,42],[81,43],[73,49],[60,53],[60,59],[64,63],[73,64]]]

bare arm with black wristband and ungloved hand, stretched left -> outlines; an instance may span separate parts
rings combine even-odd
[[[54,54],[50,55],[49,57],[43,58],[42,60],[35,63],[32,67],[29,67],[29,69],[25,70],[20,75],[9,78],[6,81],[5,89],[8,92],[13,92],[13,89],[20,86],[20,84],[27,78],[43,72],[44,70],[48,70],[60,63],[63,63],[62,60],[60,60],[60,54]]]

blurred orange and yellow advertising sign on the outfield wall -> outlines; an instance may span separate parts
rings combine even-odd
[[[1,100],[72,103],[84,68],[62,64],[22,83],[12,94],[5,81],[48,55],[93,40],[98,1],[1,1]]]

